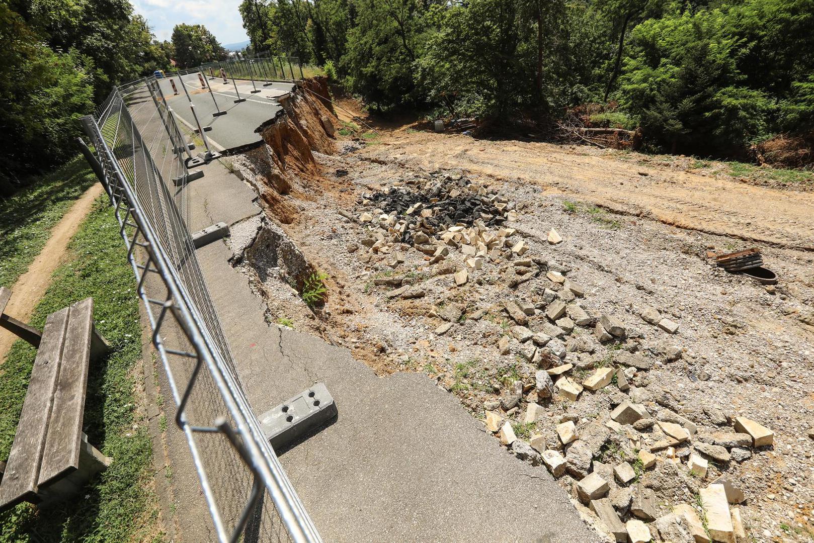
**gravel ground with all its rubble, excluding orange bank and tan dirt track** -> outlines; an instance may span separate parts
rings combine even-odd
[[[315,153],[330,189],[236,255],[269,322],[426,373],[608,541],[812,540],[809,253],[761,247],[762,287],[707,257],[731,238],[382,147]],[[324,305],[287,261],[327,274]]]

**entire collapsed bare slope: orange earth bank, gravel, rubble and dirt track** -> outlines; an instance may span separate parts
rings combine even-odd
[[[268,145],[235,161],[266,217],[245,226],[234,265],[271,325],[344,345],[379,374],[435,379],[600,532],[619,529],[604,504],[654,541],[702,541],[714,520],[702,502],[724,477],[744,541],[810,540],[811,193],[681,159],[340,136],[355,129],[318,97],[324,82],[309,85],[261,127]],[[751,246],[777,287],[707,257]],[[326,298],[309,306],[318,271]]]

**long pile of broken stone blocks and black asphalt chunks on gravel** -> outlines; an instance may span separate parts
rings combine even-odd
[[[396,269],[405,259],[415,261],[417,252],[433,277],[453,274],[453,286],[503,280],[514,293],[489,308],[472,304],[479,309],[466,318],[501,315],[501,332],[486,337],[494,337],[497,355],[519,370],[497,384],[480,379],[479,392],[466,392],[462,401],[517,458],[548,468],[597,529],[632,542],[746,537],[737,507],[745,494],[727,471],[755,449],[770,448],[773,434],[719,409],[686,409],[648,377],[682,357],[672,340],[680,328],[672,315],[650,307],[639,312],[662,338],[650,343],[637,326],[590,308],[571,269],[534,255],[510,227],[523,204],[465,176],[434,173],[394,182],[357,204],[367,248],[362,262],[373,258]],[[550,230],[546,241],[563,240]],[[387,300],[422,298],[431,288],[409,275],[374,278],[373,284],[392,287]],[[427,317],[440,317],[435,334],[445,335],[461,322],[462,309],[450,304]],[[454,392],[450,374],[436,379]]]

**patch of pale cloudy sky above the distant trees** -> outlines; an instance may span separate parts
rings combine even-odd
[[[132,0],[136,13],[147,17],[155,37],[168,40],[179,23],[203,24],[225,45],[248,39],[238,6],[240,0]]]

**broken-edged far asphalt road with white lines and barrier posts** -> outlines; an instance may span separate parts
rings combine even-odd
[[[164,93],[169,107],[172,107],[173,112],[184,121],[186,128],[197,128],[180,79],[177,76],[168,76],[166,79],[158,80],[161,92]],[[178,94],[173,93],[171,81],[175,83]],[[231,79],[224,84],[221,78],[209,77],[205,82],[206,89],[201,87],[201,81],[196,73],[183,76],[183,84],[186,85],[186,90],[195,105],[195,113],[200,124],[212,126],[212,130],[207,131],[206,135],[210,143],[214,143],[217,151],[260,142],[260,134],[256,134],[255,129],[274,117],[281,108],[276,98],[287,94],[294,87],[291,83],[284,82],[273,82],[269,86],[264,86],[265,81],[255,81],[252,85],[252,81],[235,80],[233,84]],[[260,92],[252,93],[253,90]],[[245,101],[234,103],[238,96]],[[218,111],[226,114],[213,115]]]

